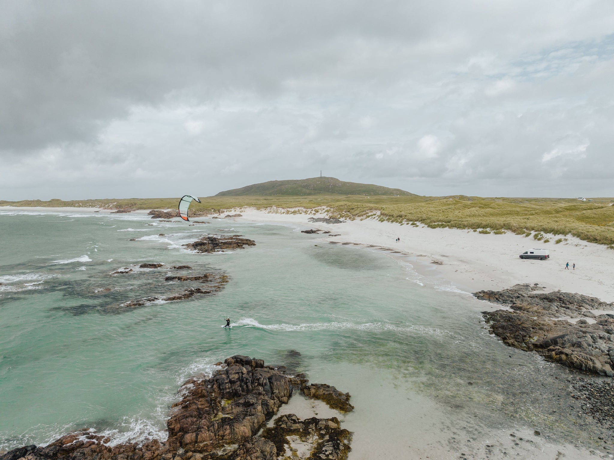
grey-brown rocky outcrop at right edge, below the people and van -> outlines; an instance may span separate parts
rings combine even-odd
[[[614,303],[577,293],[538,292],[543,289],[537,284],[522,284],[473,295],[510,307],[511,311],[483,312],[491,333],[506,345],[535,351],[564,366],[614,377],[614,315],[591,311],[614,310]],[[581,319],[572,323],[565,318]]]

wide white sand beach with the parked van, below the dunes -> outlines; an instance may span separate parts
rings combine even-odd
[[[311,223],[306,214],[279,214],[254,209],[241,211],[245,220],[292,223],[305,228],[330,231],[322,241],[375,245],[401,251],[415,259],[414,269],[422,275],[449,280],[462,291],[508,288],[516,283],[539,283],[548,291],[561,289],[614,301],[614,251],[604,245],[567,236],[555,244],[507,232],[480,234],[468,230],[431,229],[377,220],[346,221],[341,224]],[[317,217],[325,217],[318,215]],[[400,242],[395,239],[400,238]],[[545,261],[520,259],[530,248],[550,250]],[[436,262],[433,264],[433,262]],[[565,263],[569,262],[569,270]],[[441,263],[438,264],[438,263]],[[575,270],[572,265],[576,264]]]

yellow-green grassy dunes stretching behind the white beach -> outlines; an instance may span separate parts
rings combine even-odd
[[[104,207],[119,209],[173,209],[179,198],[99,199],[78,201],[0,201],[2,205],[42,207]],[[211,196],[201,198],[190,209],[223,213],[230,209],[255,207],[278,213],[315,213],[325,210],[344,219],[377,219],[398,224],[423,223],[431,228],[474,229],[516,234],[572,235],[614,248],[614,200],[482,198],[467,196],[360,196],[316,194],[311,196]],[[527,235],[529,236],[529,235]]]

